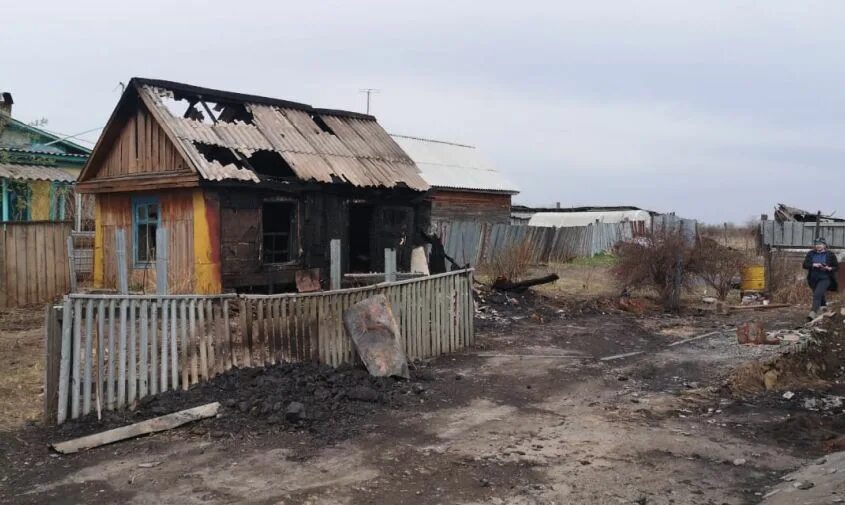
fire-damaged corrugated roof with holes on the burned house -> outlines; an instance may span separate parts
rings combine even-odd
[[[429,189],[373,116],[170,81],[134,78],[133,86],[207,181],[294,175],[358,187]]]

